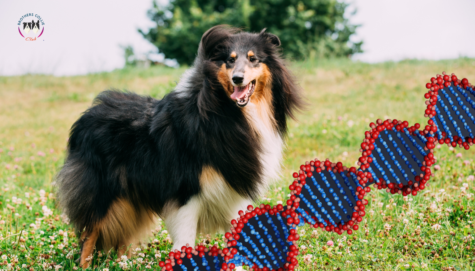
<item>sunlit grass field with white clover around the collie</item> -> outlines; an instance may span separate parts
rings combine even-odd
[[[264,203],[286,199],[291,173],[306,160],[330,158],[353,166],[371,121],[425,124],[423,94],[430,77],[446,71],[475,78],[475,60],[468,58],[371,65],[334,59],[299,62],[292,69],[310,106],[299,122],[289,123],[284,176]],[[183,71],[155,66],[71,77],[0,77],[0,270],[77,268],[77,229],[57,210],[52,186],[69,128],[100,91],[113,87],[160,98]],[[472,270],[472,149],[436,149],[440,169],[418,196],[373,190],[368,215],[352,235],[300,228],[298,270]],[[221,236],[202,239],[223,244]],[[170,248],[166,229],[157,221],[151,239],[131,259],[97,252],[91,267],[150,270],[158,268]]]

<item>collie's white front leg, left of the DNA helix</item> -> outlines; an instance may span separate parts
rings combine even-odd
[[[173,241],[173,250],[181,250],[186,244],[194,247],[200,207],[199,202],[191,198],[184,206],[167,208],[164,219],[168,234]]]

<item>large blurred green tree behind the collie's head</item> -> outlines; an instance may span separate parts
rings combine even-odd
[[[153,1],[148,16],[157,23],[139,30],[167,58],[190,65],[201,35],[218,24],[263,28],[279,36],[287,56],[348,56],[362,52],[362,42],[350,36],[358,27],[343,17],[348,4],[337,0],[171,0],[166,6]]]

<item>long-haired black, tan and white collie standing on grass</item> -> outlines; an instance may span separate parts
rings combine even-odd
[[[265,30],[210,28],[163,99],[104,91],[73,124],[57,194],[83,267],[94,249],[127,253],[156,216],[174,249],[223,232],[279,178],[287,121],[304,102]]]

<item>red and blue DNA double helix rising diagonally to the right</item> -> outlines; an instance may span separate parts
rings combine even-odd
[[[290,198],[285,205],[248,206],[230,222],[227,247],[199,243],[183,246],[160,262],[162,271],[231,271],[247,265],[250,271],[293,271],[299,266],[296,227],[336,234],[352,234],[366,215],[373,189],[416,196],[429,186],[437,163],[437,144],[469,150],[474,143],[475,91],[466,78],[442,75],[430,78],[424,93],[428,124],[409,126],[408,121],[381,120],[370,123],[361,142],[358,166],[346,167],[329,159],[306,161],[293,174]]]

